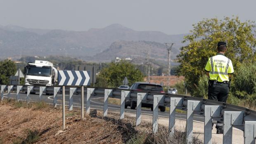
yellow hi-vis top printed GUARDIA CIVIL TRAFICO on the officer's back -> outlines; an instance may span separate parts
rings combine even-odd
[[[204,70],[209,72],[210,80],[218,82],[229,81],[228,74],[234,73],[232,61],[220,53],[209,58]]]

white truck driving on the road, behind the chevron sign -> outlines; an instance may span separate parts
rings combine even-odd
[[[25,85],[56,85],[58,73],[50,61],[36,60],[24,67]]]

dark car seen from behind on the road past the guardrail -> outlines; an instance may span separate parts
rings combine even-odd
[[[154,92],[163,92],[163,87],[159,84],[156,83],[144,83],[144,82],[137,82],[133,83],[132,86],[130,86],[130,90],[145,90],[145,91],[154,91]],[[136,101],[132,100],[126,100],[125,108],[127,109],[127,106],[130,106],[130,109],[135,109],[137,106]],[[142,107],[147,107],[151,108],[153,111],[153,104],[149,103],[143,103],[142,102]],[[159,106],[160,111],[165,111],[165,106]]]

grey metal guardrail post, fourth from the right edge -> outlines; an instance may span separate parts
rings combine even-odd
[[[200,111],[201,101],[187,100],[187,144],[192,144],[193,142],[193,113],[194,111]]]

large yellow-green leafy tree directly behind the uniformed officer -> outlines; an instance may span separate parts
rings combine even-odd
[[[203,75],[207,60],[217,53],[218,41],[227,42],[225,55],[232,60],[235,71],[242,63],[256,61],[253,21],[241,22],[238,17],[225,17],[223,20],[204,19],[193,26],[191,34],[184,37],[183,42],[188,42],[188,45],[181,47],[177,56],[180,62],[177,74],[185,76],[192,95],[196,95],[199,76]]]

